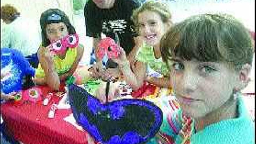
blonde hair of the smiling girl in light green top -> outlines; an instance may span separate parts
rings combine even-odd
[[[168,23],[172,17],[168,7],[160,2],[157,1],[147,1],[143,5],[141,5],[139,8],[135,9],[133,11],[133,14],[131,16],[131,20],[134,22],[135,26],[138,26],[138,15],[145,10],[153,11],[158,13],[161,16],[161,19],[164,23]]]

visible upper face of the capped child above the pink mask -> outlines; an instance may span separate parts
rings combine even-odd
[[[63,22],[47,24],[46,35],[50,42],[59,40],[68,35],[67,26]]]

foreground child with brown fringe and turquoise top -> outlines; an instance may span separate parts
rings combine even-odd
[[[163,36],[161,54],[182,111],[166,114],[149,143],[255,143],[240,92],[253,59],[243,24],[224,14],[192,16]]]

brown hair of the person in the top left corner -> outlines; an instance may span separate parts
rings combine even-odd
[[[17,17],[19,17],[19,15],[20,13],[14,6],[10,4],[1,6],[1,19],[3,19],[4,22],[13,22]]]

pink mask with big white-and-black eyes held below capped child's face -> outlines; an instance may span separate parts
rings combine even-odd
[[[67,47],[74,48],[78,45],[78,35],[67,35],[62,39],[56,40],[51,43],[51,51],[55,54],[64,54]]]

